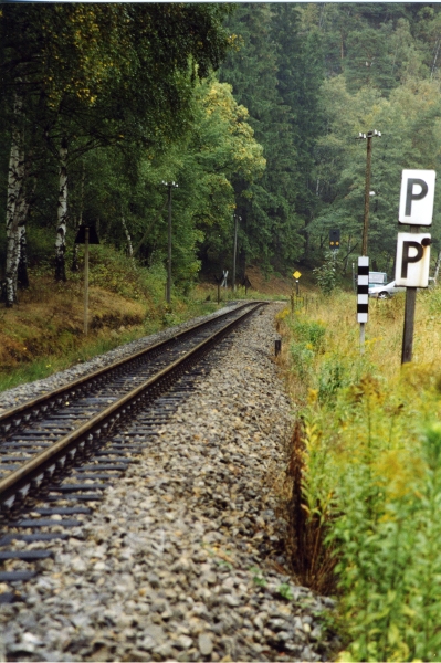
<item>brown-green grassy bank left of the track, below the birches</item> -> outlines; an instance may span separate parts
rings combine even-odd
[[[276,298],[216,285],[172,292],[165,302],[162,265],[141,267],[109,246],[91,249],[88,335],[83,333],[83,274],[54,283],[44,262],[30,270],[31,286],[12,308],[0,305],[0,391],[48,377],[130,340],[212,313],[232,299]]]

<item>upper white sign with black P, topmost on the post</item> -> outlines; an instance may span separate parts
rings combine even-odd
[[[403,170],[398,221],[409,225],[431,225],[434,170]]]

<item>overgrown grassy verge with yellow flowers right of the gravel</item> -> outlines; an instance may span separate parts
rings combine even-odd
[[[440,660],[441,293],[419,293],[402,368],[403,297],[372,303],[363,356],[354,309],[337,294],[280,316],[293,568],[339,597],[339,660]]]

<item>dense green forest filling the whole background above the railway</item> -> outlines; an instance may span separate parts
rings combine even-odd
[[[401,170],[438,170],[441,8],[421,3],[62,3],[0,10],[0,229],[7,304],[28,262],[77,269],[81,223],[174,284],[201,269],[391,272]],[[441,192],[432,234],[439,249]]]

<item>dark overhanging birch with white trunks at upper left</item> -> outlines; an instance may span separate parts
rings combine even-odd
[[[57,278],[65,277],[69,160],[102,145],[159,146],[181,135],[195,81],[224,55],[228,11],[185,3],[2,8],[0,73],[12,134],[23,115],[32,115],[59,158]],[[17,140],[12,146],[19,162],[22,149]],[[22,169],[13,172],[10,201],[22,189]]]

